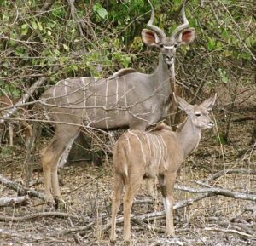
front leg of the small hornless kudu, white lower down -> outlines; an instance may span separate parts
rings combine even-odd
[[[166,236],[175,237],[173,226],[173,192],[176,173],[160,176],[160,190],[163,195],[163,202],[166,211]]]

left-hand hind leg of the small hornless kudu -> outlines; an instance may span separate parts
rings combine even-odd
[[[112,198],[112,218],[111,218],[111,234],[110,242],[116,241],[116,215],[119,211],[121,195],[124,188],[124,180],[120,174],[114,174],[113,198]]]

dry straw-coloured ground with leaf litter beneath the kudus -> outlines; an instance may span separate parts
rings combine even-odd
[[[197,151],[192,154],[177,178],[180,186],[201,188],[195,183],[224,169],[255,170],[255,145],[250,144],[252,123],[231,123],[230,141],[220,144],[218,134],[224,131],[225,123],[207,130]],[[44,145],[44,141],[42,143]],[[41,147],[38,147],[38,151]],[[14,181],[24,182],[24,150],[14,146],[14,151],[1,160],[1,173]],[[3,154],[3,153],[2,153]],[[39,163],[38,155],[35,162]],[[39,181],[32,189],[43,192],[42,173],[35,172]],[[91,163],[72,163],[61,169],[62,198],[66,209],[55,211],[38,198],[31,197],[23,206],[0,208],[0,245],[109,245],[109,219],[113,186],[111,157],[102,166]],[[209,185],[232,192],[255,195],[256,179],[253,174],[224,174],[209,182]],[[16,196],[16,192],[1,186],[1,197]],[[156,186],[157,189],[157,186]],[[180,202],[198,194],[176,190],[175,200]],[[191,206],[175,211],[177,238],[167,238],[162,233],[165,225],[163,215],[148,220],[136,220],[139,215],[163,211],[160,191],[149,197],[143,184],[132,208],[135,220],[131,222],[131,245],[256,245],[255,201],[212,195]],[[253,214],[253,208],[254,214]],[[46,216],[49,212],[49,216]],[[62,214],[53,213],[61,212]],[[43,213],[43,214],[38,214]],[[64,215],[65,214],[65,215]],[[35,215],[34,218],[4,220],[11,216]],[[122,211],[119,211],[119,217]],[[143,227],[151,225],[149,229]],[[117,225],[118,241],[122,242],[123,224]]]

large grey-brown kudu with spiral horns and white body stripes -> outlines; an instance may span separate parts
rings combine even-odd
[[[61,196],[57,167],[66,162],[83,124],[96,129],[144,130],[166,116],[171,105],[170,79],[175,77],[176,49],[195,38],[194,28],[188,28],[184,4],[181,13],[183,24],[177,26],[171,37],[166,37],[164,31],[153,25],[152,8],[147,25],[150,30],[142,31],[143,42],[160,49],[159,63],[152,74],[122,69],[107,79],[68,78],[43,94],[44,115],[55,122],[55,135],[42,152],[47,201],[54,202],[54,197]]]

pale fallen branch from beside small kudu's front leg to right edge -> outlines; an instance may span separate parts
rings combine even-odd
[[[214,193],[215,195],[221,195],[221,196],[224,196],[224,197],[231,197],[231,198],[241,199],[241,200],[256,201],[256,195],[241,193],[241,192],[231,192],[229,190],[224,190],[222,188],[216,188],[216,187],[208,186],[207,184],[204,184],[203,182],[200,182],[200,181],[197,181],[197,184],[200,184],[201,186],[207,186],[207,188],[195,189],[195,188],[191,188],[191,187],[175,185],[175,189],[183,191],[183,192]]]

